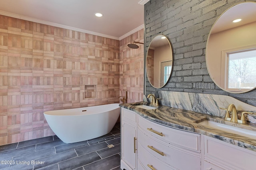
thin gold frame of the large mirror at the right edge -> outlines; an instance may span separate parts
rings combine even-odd
[[[237,5],[239,5],[239,4],[244,4],[244,3],[254,3],[254,4],[256,5],[256,2],[240,2],[240,3],[234,4],[233,6],[231,6],[231,7],[228,8],[227,10],[225,10],[225,11],[218,17],[218,19],[215,21],[215,23],[213,24],[213,26],[212,26],[212,28],[211,28],[211,30],[210,30],[210,33],[209,33],[209,35],[208,35],[207,43],[206,43],[206,67],[207,67],[208,73],[209,73],[209,75],[210,75],[212,81],[213,81],[220,89],[222,89],[222,90],[224,90],[224,91],[226,91],[226,92],[229,92],[229,93],[233,93],[233,94],[240,94],[240,93],[249,92],[249,91],[251,91],[251,90],[254,90],[254,89],[256,88],[256,86],[255,86],[254,88],[251,88],[251,89],[248,89],[248,90],[243,90],[243,91],[232,91],[232,90],[227,90],[227,89],[221,87],[220,84],[218,84],[218,83],[214,80],[214,78],[212,77],[212,75],[211,75],[211,73],[210,73],[210,69],[209,69],[209,66],[208,66],[209,62],[207,62],[207,61],[209,60],[209,59],[207,59],[207,56],[208,56],[208,55],[207,55],[207,49],[209,48],[209,47],[208,47],[208,43],[209,43],[210,35],[211,35],[212,30],[214,29],[214,26],[215,26],[215,24],[217,23],[217,21],[222,17],[222,15],[223,15],[226,11],[230,10],[230,9],[233,8],[234,6],[237,6]]]

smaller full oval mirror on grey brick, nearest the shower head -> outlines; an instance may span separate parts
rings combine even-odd
[[[154,88],[162,88],[172,72],[172,47],[164,35],[156,35],[148,47],[146,72]]]

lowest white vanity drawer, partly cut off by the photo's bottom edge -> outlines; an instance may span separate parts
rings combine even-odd
[[[141,164],[138,166],[138,170],[152,170],[149,166],[156,170],[174,170],[174,168],[171,168],[164,162],[154,158],[154,156],[148,153],[140,143],[138,143],[138,150],[140,150],[138,152],[138,164]]]

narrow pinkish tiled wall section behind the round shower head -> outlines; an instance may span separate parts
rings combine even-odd
[[[128,92],[128,103],[143,101],[144,45],[135,43],[138,49],[127,45],[134,41],[144,42],[144,29],[120,41],[120,96]]]

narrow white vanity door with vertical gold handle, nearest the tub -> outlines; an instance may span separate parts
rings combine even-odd
[[[121,108],[121,169],[135,170],[137,165],[137,114]]]

